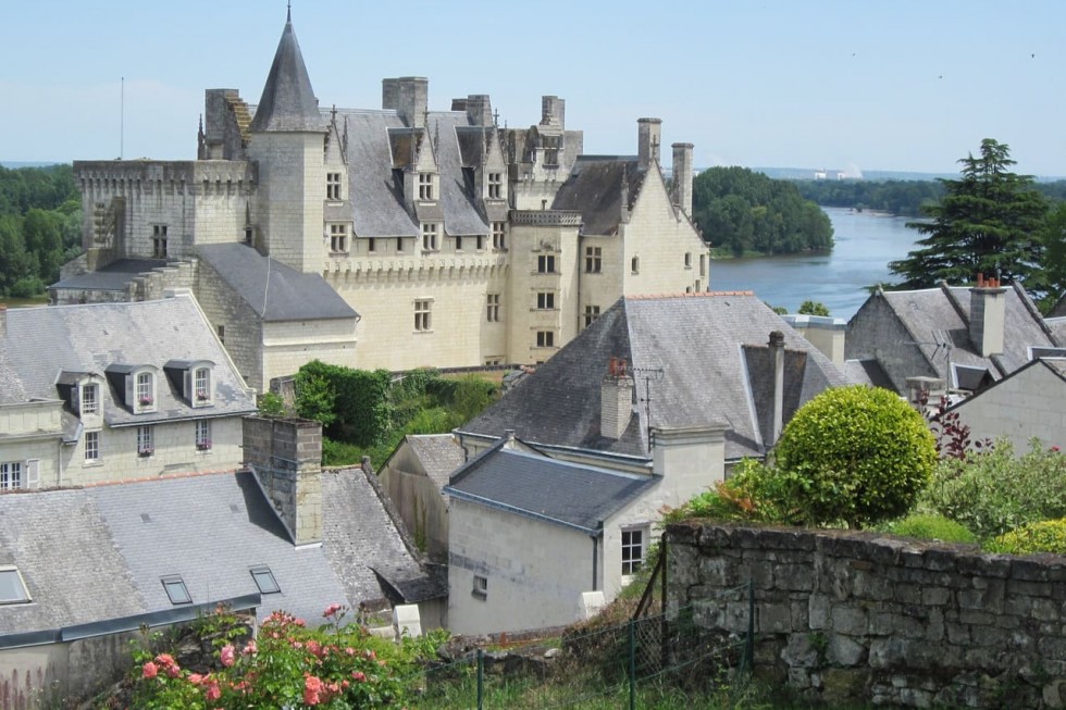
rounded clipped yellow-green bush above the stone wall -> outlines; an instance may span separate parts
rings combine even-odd
[[[879,387],[838,387],[796,412],[774,449],[773,499],[791,522],[862,527],[909,511],[937,449],[915,409]]]

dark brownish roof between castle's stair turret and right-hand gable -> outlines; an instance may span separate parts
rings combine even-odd
[[[581,234],[616,235],[648,174],[635,155],[581,155],[559,188],[553,210],[581,212]]]

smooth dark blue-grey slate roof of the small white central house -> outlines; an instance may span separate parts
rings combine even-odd
[[[456,472],[444,493],[595,534],[659,481],[496,446]]]

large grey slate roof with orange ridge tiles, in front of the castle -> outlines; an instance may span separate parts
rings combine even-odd
[[[771,331],[784,334],[792,353],[789,401],[800,406],[827,387],[848,384],[751,291],[628,297],[461,431],[503,436],[515,429],[532,444],[647,457],[649,426],[724,422],[727,459],[761,456],[769,432],[759,425],[759,412],[766,411],[772,372],[751,368]],[[599,431],[600,386],[611,358],[627,361],[636,389],[635,415],[619,439]]]

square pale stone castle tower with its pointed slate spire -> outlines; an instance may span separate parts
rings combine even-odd
[[[259,163],[261,244],[268,254],[298,271],[321,272],[326,125],[311,90],[292,11],[249,132],[248,157]]]

